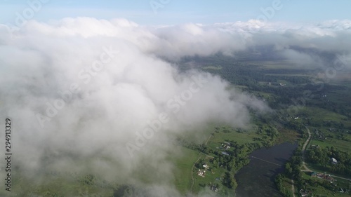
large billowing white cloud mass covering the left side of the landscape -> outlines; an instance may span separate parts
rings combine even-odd
[[[0,88],[1,116],[13,119],[13,151],[18,165],[30,172],[44,164],[51,170],[75,163],[77,170],[135,182],[133,172],[146,161],[148,168],[158,169],[155,177],[164,177],[173,168],[164,162],[166,155],[177,154],[170,145],[173,133],[196,133],[213,121],[249,124],[249,97],[233,100],[227,82],[218,76],[181,74],[159,58],[232,50],[233,36],[215,28],[188,24],[151,29],[124,19],[65,18],[32,20],[11,36],[1,34],[6,37],[0,39],[0,81],[6,84]],[[108,50],[119,53],[113,52],[97,72],[94,62],[107,60]],[[202,76],[206,83],[195,83],[192,76]],[[71,86],[79,90],[71,91]],[[177,96],[185,97],[185,104],[178,104]],[[263,102],[259,105],[260,111],[267,109]],[[135,133],[161,113],[170,121],[129,156],[126,143],[134,142]],[[119,170],[111,172],[114,165]]]

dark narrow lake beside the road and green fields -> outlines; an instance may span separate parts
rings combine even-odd
[[[284,163],[292,156],[298,144],[284,143],[250,154],[250,163],[235,175],[238,197],[282,196],[276,189],[274,177],[283,172]]]

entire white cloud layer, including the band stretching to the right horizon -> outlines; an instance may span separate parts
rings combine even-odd
[[[152,195],[176,196],[166,159],[181,156],[176,136],[201,140],[210,123],[247,128],[249,110],[270,113],[219,76],[180,72],[177,62],[257,46],[273,46],[297,67],[323,69],[340,58],[350,68],[351,21],[147,27],[65,18],[15,32],[0,25],[0,114],[13,119],[15,165],[29,177],[63,169],[131,184],[141,184],[142,168],[155,180]]]

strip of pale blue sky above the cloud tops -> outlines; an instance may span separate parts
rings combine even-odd
[[[39,1],[39,0],[29,0]],[[41,0],[44,1],[44,0]],[[264,15],[262,8],[271,7],[274,1],[282,6],[274,10],[267,20],[280,22],[321,22],[324,20],[351,19],[351,1],[338,0],[45,0],[32,19],[47,22],[65,17],[88,16],[99,19],[126,18],[140,25],[176,25],[185,22],[213,24],[256,19]],[[161,5],[157,13],[152,9]],[[164,4],[162,4],[164,2]],[[27,0],[0,0],[0,23],[14,24],[18,14],[30,8]]]

